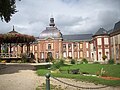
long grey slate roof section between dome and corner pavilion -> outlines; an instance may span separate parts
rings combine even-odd
[[[91,40],[93,34],[74,34],[74,35],[63,35],[63,41],[86,41]]]

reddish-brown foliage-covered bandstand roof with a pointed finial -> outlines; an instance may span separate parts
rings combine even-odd
[[[12,31],[6,34],[0,34],[0,43],[30,43],[34,41],[34,36],[20,34],[14,30],[14,27]]]

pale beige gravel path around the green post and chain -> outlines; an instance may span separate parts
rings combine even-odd
[[[77,86],[85,86],[85,87],[103,86],[103,85],[95,85],[93,83],[75,81],[73,79],[63,79],[63,78],[59,78],[59,79]],[[64,90],[82,90],[62,84],[52,78],[50,82],[53,85],[62,87]],[[35,67],[33,65],[0,64],[0,90],[36,90],[36,87],[41,86],[43,83],[45,83],[45,77],[37,76],[35,74]],[[98,90],[120,90],[120,87],[107,87]]]

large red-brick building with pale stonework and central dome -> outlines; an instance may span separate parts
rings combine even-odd
[[[13,52],[15,52],[15,48]],[[20,47],[16,52],[20,52]],[[25,53],[27,47],[23,46]],[[120,22],[116,23],[110,33],[100,28],[93,34],[63,35],[55,26],[54,18],[50,18],[49,26],[43,30],[36,41],[30,45],[30,52],[36,60],[45,61],[48,56],[54,59],[73,58],[81,60],[87,58],[89,61],[103,62],[103,56],[107,60],[113,58],[120,62]]]

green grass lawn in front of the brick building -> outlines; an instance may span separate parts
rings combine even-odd
[[[40,76],[45,76],[46,73],[50,72],[48,70],[49,66],[37,66],[37,74]],[[68,70],[79,69],[80,72],[87,72],[89,74],[95,75],[100,72],[101,69],[106,71],[107,76],[119,77],[120,78],[120,65],[102,65],[102,64],[78,64],[78,65],[65,65],[60,67],[61,73],[51,73],[54,77],[71,78],[80,81],[93,82],[95,84],[103,84],[108,86],[120,86],[120,80],[105,80],[99,77],[93,76],[83,76],[80,74],[68,74]]]

